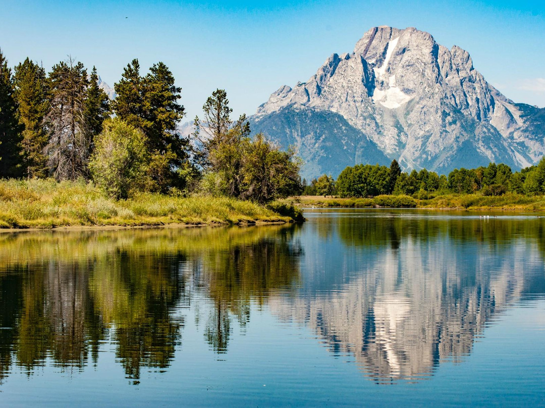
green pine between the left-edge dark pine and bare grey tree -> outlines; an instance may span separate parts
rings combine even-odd
[[[43,119],[47,112],[47,86],[45,70],[30,59],[15,67],[15,97],[19,104],[19,122],[23,130],[22,148],[27,177],[45,177],[47,158],[44,148],[47,134]]]

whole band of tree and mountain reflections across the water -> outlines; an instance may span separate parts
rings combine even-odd
[[[14,367],[85,370],[111,344],[137,383],[144,367],[168,370],[187,311],[220,357],[256,308],[311,329],[376,382],[426,378],[463,361],[495,314],[545,293],[541,219],[446,214],[2,233],[0,381]]]

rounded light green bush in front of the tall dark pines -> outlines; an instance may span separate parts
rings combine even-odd
[[[89,161],[93,179],[114,199],[126,199],[146,185],[146,136],[119,118],[107,119]]]

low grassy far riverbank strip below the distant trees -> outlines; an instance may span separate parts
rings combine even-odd
[[[481,194],[445,194],[427,199],[415,199],[405,195],[380,195],[370,199],[335,196],[299,196],[290,199],[303,208],[451,208],[470,210],[545,210],[545,196],[528,196],[508,193],[501,196]]]

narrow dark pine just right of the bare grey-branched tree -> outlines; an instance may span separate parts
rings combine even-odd
[[[102,131],[102,122],[110,117],[110,99],[106,92],[99,88],[99,76],[95,67],[89,77],[83,115],[89,132],[88,137],[93,140]]]

